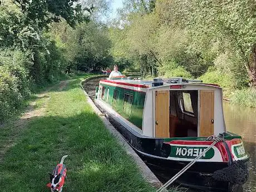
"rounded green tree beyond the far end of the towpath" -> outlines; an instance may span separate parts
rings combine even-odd
[[[91,21],[81,23],[68,33],[66,58],[73,68],[99,71],[112,64],[106,27]]]

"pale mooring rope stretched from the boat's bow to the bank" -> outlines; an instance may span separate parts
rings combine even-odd
[[[214,141],[214,142],[209,147],[207,147],[199,156],[197,156],[195,159],[193,159],[193,161],[190,161],[190,163],[188,165],[186,165],[183,169],[181,169],[179,171],[179,173],[174,175],[173,178],[171,178],[163,186],[161,186],[159,189],[157,189],[156,192],[162,192],[162,191],[166,190],[166,188],[170,184],[172,184],[176,179],[178,179],[180,175],[185,173],[185,171],[188,170],[192,165],[194,165],[198,159],[200,159],[203,155],[205,155],[206,152],[211,149],[211,147],[213,147],[217,142],[223,141],[223,137],[221,137],[221,135],[220,136],[211,135],[207,138],[207,140]]]

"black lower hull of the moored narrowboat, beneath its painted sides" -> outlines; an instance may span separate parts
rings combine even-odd
[[[97,104],[97,102],[95,102],[95,104],[163,183],[171,179],[190,162],[168,159],[170,146],[163,144],[164,139],[140,137],[133,134],[129,129],[117,121],[115,117],[111,116],[111,114],[101,105]],[[213,178],[215,171],[227,167],[228,162],[196,162],[175,182],[204,191],[238,191],[238,189],[241,188],[241,185],[225,181],[217,181]]]

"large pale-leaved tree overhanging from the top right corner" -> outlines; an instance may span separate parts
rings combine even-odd
[[[229,50],[240,57],[256,87],[255,1],[159,0],[156,7],[169,26],[188,29],[202,53],[218,43],[219,54]]]

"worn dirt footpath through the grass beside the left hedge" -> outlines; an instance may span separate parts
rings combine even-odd
[[[66,87],[67,81],[61,81],[59,84],[60,90]],[[54,86],[53,86],[54,87]],[[20,117],[20,119],[12,122],[11,125],[7,127],[0,127],[0,129],[8,129],[9,135],[8,139],[4,142],[3,145],[0,145],[0,162],[4,159],[4,154],[12,147],[16,145],[16,141],[22,132],[27,128],[27,125],[32,120],[33,117],[40,117],[45,115],[46,106],[50,101],[51,97],[49,92],[53,87],[48,88],[46,91],[43,91],[40,94],[36,94],[37,100],[42,100],[40,107],[36,107],[36,101],[33,101],[27,107],[27,110]]]

